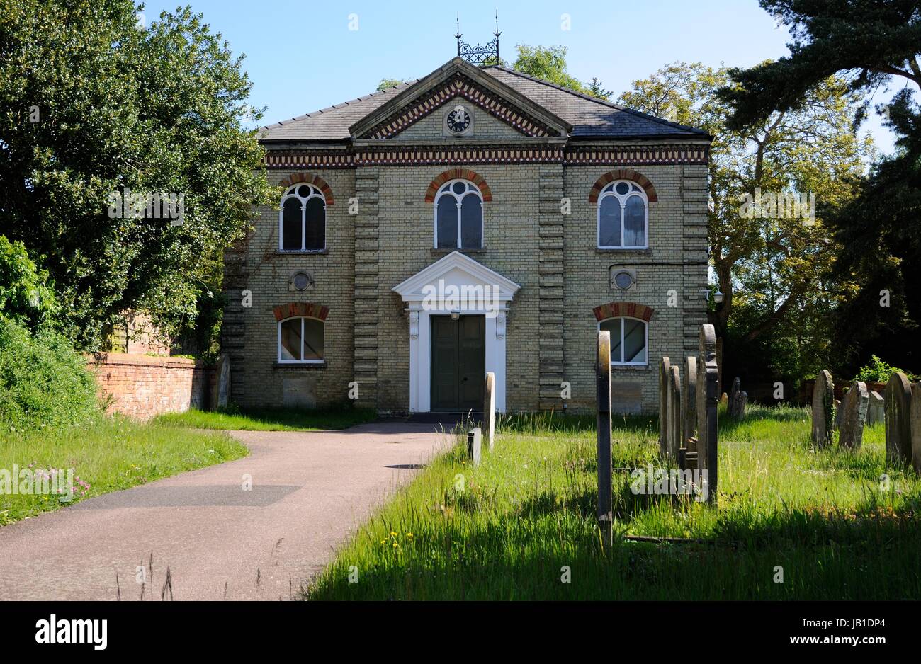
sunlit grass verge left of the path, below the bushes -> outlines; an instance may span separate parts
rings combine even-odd
[[[126,418],[73,429],[0,431],[0,469],[74,469],[74,501],[246,456],[225,433],[190,431]],[[83,484],[80,484],[83,483]],[[64,507],[59,497],[0,491],[0,525]]]

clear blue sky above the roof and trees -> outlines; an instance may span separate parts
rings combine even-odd
[[[465,41],[492,39],[498,11],[500,55],[516,44],[567,47],[569,74],[597,76],[614,97],[659,67],[678,61],[749,66],[787,54],[787,29],[756,0],[575,2],[307,2],[185,0],[245,53],[251,103],[267,107],[260,124],[286,120],[372,92],[381,78],[417,78],[457,52],[455,17]],[[148,2],[147,21],[172,2]],[[357,29],[349,29],[350,15]],[[570,29],[563,29],[568,15]],[[354,25],[354,21],[353,21]],[[904,85],[904,79],[895,86]],[[892,93],[878,95],[882,102]],[[892,134],[866,125],[884,152]]]

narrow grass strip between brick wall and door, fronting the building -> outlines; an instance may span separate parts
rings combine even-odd
[[[247,431],[322,431],[347,429],[376,418],[372,408],[307,410],[298,408],[262,408],[239,413],[188,410],[159,416],[157,424],[192,429]]]

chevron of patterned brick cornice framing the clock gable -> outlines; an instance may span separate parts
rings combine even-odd
[[[387,140],[433,111],[463,98],[522,136],[565,138],[572,127],[514,88],[454,58],[349,127],[354,140]]]

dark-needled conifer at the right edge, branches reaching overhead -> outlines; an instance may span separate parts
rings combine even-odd
[[[751,69],[730,71],[720,92],[742,129],[777,112],[799,109],[817,86],[837,74],[862,103],[856,123],[882,86],[921,86],[921,7],[912,0],[762,0],[761,6],[791,30],[790,55]],[[892,361],[917,364],[921,321],[921,109],[903,88],[877,107],[898,139],[896,154],[857,178],[852,199],[830,201],[826,221],[834,232],[838,279],[857,280],[836,310],[835,346],[845,371],[867,358],[870,345]],[[913,352],[914,351],[914,352]]]

